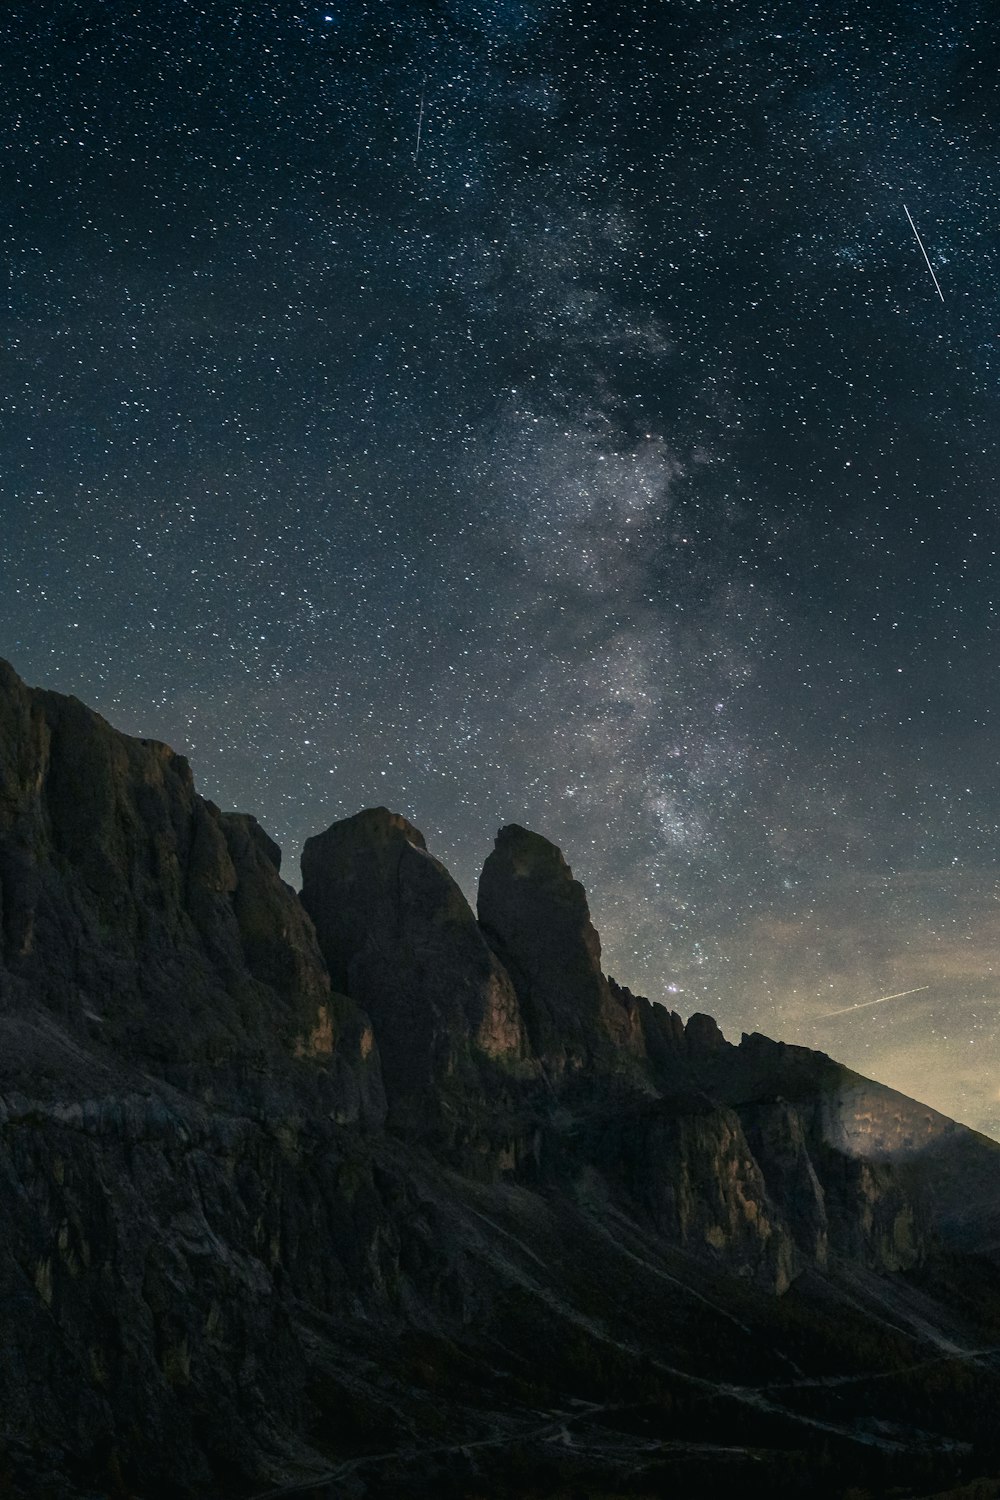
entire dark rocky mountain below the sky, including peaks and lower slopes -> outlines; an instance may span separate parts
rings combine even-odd
[[[0,1494],[936,1494],[1000,1473],[991,1143],[468,908],[382,808],[303,896],[0,664]]]

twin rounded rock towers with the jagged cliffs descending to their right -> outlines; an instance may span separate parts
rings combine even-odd
[[[480,924],[387,808],[309,840],[301,894],[336,986],[372,1017],[393,1120],[447,1137],[463,1172],[597,1173],[672,1244],[775,1292],[825,1266],[831,1239],[871,1266],[919,1256],[913,1215],[886,1228],[904,1212],[892,1174],[862,1182],[828,1150],[822,1108],[772,1100],[796,1065],[819,1082],[816,1054],[735,1048],[711,1016],[684,1026],[609,981],[583,888],[546,838],[501,830]]]

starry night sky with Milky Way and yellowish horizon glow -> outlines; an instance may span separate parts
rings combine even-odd
[[[288,879],[526,824],[621,982],[1000,1136],[999,76],[987,0],[6,8],[0,654]]]

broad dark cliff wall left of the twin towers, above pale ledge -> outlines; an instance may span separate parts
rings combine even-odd
[[[328,1108],[378,1118],[366,1023],[333,993],[256,820],[198,796],[166,746],[30,692],[6,664],[0,850],[9,1034],[54,1028],[58,1054],[82,1046],[243,1100],[298,1058],[294,1088],[309,1077]],[[0,1086],[12,1082],[40,1082],[34,1053],[13,1041],[0,1048]]]

